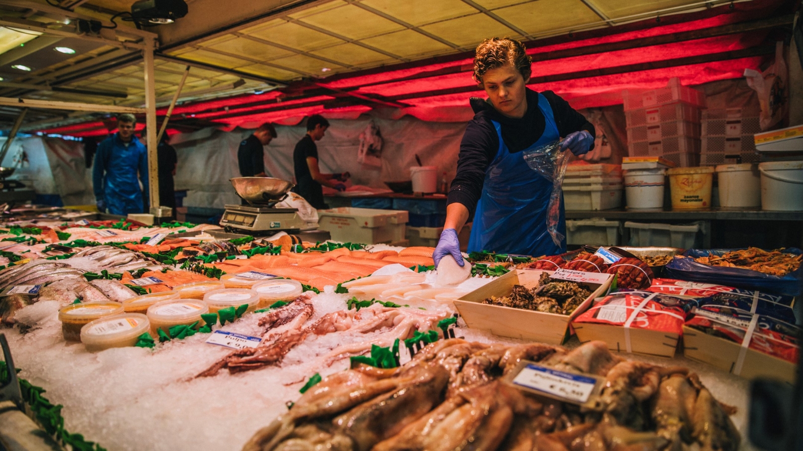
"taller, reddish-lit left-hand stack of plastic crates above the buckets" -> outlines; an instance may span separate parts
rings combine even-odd
[[[670,79],[652,91],[622,91],[630,156],[662,156],[696,166],[700,153],[700,108],[705,95]]]

